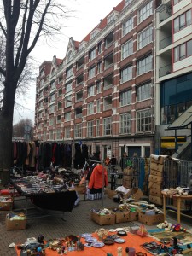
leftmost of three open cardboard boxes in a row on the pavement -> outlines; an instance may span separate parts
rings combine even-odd
[[[90,218],[96,224],[99,225],[110,225],[110,224],[115,224],[115,213],[112,212],[111,214],[106,214],[106,215],[100,215],[97,214],[96,212],[90,212]]]

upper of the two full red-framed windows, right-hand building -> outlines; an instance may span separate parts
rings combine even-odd
[[[174,20],[174,32],[177,33],[179,30],[182,30],[184,27],[189,26],[191,23],[191,9],[189,9],[189,11],[187,11],[183,15],[178,16]]]

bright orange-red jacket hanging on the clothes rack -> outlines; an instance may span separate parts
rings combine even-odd
[[[102,173],[103,172],[103,173]],[[102,177],[104,182],[102,183]],[[89,189],[101,189],[102,185],[108,186],[108,172],[102,165],[97,165],[90,176]]]

